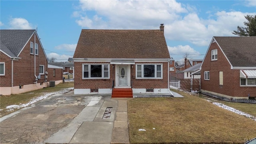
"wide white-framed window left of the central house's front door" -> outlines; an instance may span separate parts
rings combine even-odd
[[[83,64],[83,79],[109,78],[109,64]]]

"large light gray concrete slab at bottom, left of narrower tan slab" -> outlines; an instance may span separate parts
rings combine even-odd
[[[110,144],[113,122],[83,122],[70,144]]]

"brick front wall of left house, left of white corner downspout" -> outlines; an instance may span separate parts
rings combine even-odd
[[[12,60],[6,54],[0,52],[0,62],[5,64],[5,75],[0,76],[0,87],[12,86]]]

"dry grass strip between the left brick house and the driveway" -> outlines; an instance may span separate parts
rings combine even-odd
[[[32,98],[36,98],[38,96],[41,96],[45,92],[56,92],[59,91],[63,88],[71,88],[74,87],[74,82],[65,82],[65,83],[60,83],[57,84],[55,87],[48,87],[48,88],[42,88],[39,90],[33,90],[30,92],[24,92],[22,94],[12,94],[8,96],[0,96],[0,117],[5,116],[7,114],[10,114],[12,112],[8,112],[6,109],[6,106],[10,105],[19,105],[19,104],[26,104],[29,102]]]

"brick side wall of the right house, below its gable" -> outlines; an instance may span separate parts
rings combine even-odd
[[[218,49],[218,60],[211,61],[211,50]],[[210,72],[210,80],[204,80],[204,71]],[[219,72],[223,71],[223,85],[219,83]],[[212,43],[201,70],[201,89],[227,96],[256,96],[256,87],[240,86],[240,70],[232,70],[231,66],[215,43]]]

